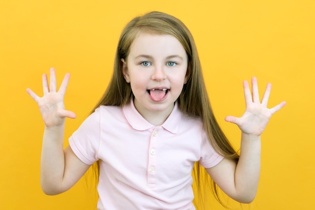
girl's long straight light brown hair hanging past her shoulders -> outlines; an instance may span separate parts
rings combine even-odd
[[[130,102],[132,91],[130,84],[123,77],[121,58],[127,58],[130,46],[140,32],[172,35],[180,41],[188,56],[188,81],[177,99],[179,109],[184,114],[200,117],[213,149],[223,157],[238,162],[238,153],[231,147],[211,109],[194,39],[188,28],[179,19],[171,15],[161,12],[150,12],[132,19],[126,25],[119,38],[112,79],[93,111],[101,105],[124,106]],[[97,162],[95,166],[97,169],[99,163]],[[203,177],[201,173],[205,173],[205,170],[196,163],[193,174],[198,188],[200,188],[199,183]],[[217,186],[213,180],[212,186],[215,197],[220,201]],[[222,204],[222,202],[220,203]]]

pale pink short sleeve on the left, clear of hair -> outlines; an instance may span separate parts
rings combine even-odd
[[[100,145],[100,109],[96,109],[69,137],[69,145],[82,162],[92,165],[98,160]]]

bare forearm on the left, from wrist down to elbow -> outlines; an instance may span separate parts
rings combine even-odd
[[[64,175],[64,126],[45,127],[41,154],[41,186],[46,194],[58,194]]]

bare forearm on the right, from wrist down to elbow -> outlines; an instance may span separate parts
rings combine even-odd
[[[235,190],[251,202],[257,193],[261,166],[261,138],[242,133],[241,154],[235,169]]]

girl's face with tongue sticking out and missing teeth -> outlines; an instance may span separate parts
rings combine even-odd
[[[182,44],[171,35],[141,32],[127,59],[121,61],[138,112],[149,122],[157,116],[166,120],[188,80],[188,58]]]

